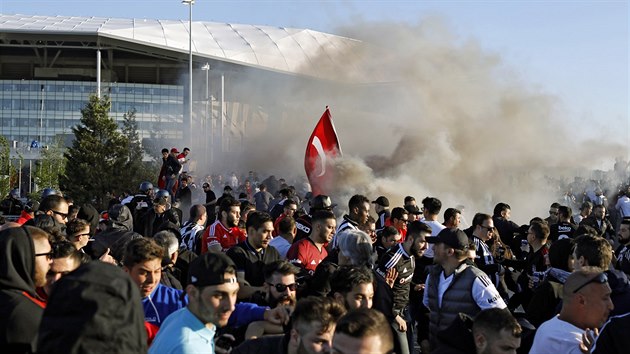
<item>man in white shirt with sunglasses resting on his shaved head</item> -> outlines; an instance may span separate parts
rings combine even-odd
[[[571,273],[562,289],[560,315],[543,323],[530,353],[581,353],[582,335],[593,336],[614,306],[606,274],[597,267]]]

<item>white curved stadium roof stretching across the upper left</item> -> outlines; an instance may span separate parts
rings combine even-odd
[[[108,37],[188,53],[188,21],[0,14],[2,33]],[[351,38],[308,29],[192,23],[193,55],[245,66],[330,79],[329,73],[355,62],[361,44]]]

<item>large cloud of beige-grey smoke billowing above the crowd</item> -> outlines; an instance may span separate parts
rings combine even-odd
[[[524,223],[546,216],[560,196],[546,176],[584,174],[624,151],[574,141],[562,102],[439,19],[353,24],[335,32],[364,44],[352,55],[340,53],[338,68],[325,68],[336,80],[248,78],[248,92],[256,87],[260,102],[271,103],[263,108],[266,128],[248,130],[237,159],[241,169],[303,175],[306,141],[330,105],[344,153],[331,193],[340,206],[354,193],[386,195],[396,205],[406,195],[430,195],[443,209],[465,205],[471,219],[502,201]]]

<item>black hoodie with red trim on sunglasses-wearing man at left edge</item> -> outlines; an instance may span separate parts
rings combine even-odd
[[[44,303],[35,293],[35,245],[24,227],[0,232],[0,348],[36,351]]]

